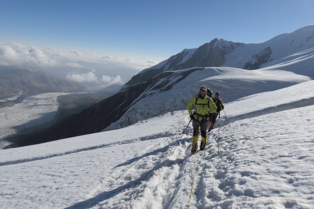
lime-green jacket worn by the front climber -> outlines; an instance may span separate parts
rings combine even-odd
[[[197,103],[195,104],[196,101],[196,97],[198,97]],[[209,101],[208,101],[209,99]],[[207,95],[205,95],[204,99],[202,99],[199,95],[199,92],[196,94],[195,97],[193,97],[190,102],[187,103],[187,111],[189,112],[189,115],[192,115],[192,107],[195,104],[194,107],[194,118],[198,119],[198,120],[203,120],[204,117],[206,117],[206,115],[209,112],[208,109],[208,104],[207,101],[209,102],[209,107],[211,109],[211,112],[216,112],[217,113],[217,107],[215,105],[215,102],[213,101],[212,98],[208,97]]]

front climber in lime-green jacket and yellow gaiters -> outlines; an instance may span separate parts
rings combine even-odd
[[[216,107],[211,95],[208,96],[207,91],[211,91],[206,87],[201,87],[200,91],[193,97],[190,102],[187,103],[187,111],[189,112],[190,118],[193,124],[193,137],[192,137],[192,149],[191,153],[194,154],[198,147],[198,133],[199,128],[201,130],[201,145],[200,150],[204,150],[205,144],[207,142],[207,124],[208,115],[211,112],[220,112],[221,107]],[[192,112],[192,107],[195,104],[194,112]]]

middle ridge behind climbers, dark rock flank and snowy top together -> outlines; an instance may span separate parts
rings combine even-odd
[[[280,73],[284,76],[277,76]],[[274,70],[192,68],[167,71],[63,118],[49,130],[30,138],[34,144],[70,138],[119,129],[167,112],[185,110],[200,86],[220,91],[223,101],[231,102],[252,92],[273,91],[309,80],[306,76]]]

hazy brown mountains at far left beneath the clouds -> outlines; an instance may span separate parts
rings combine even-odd
[[[43,92],[79,92],[87,86],[31,72],[17,67],[0,66],[0,98]]]

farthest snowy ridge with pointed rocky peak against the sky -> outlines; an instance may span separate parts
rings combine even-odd
[[[244,44],[214,39],[197,49],[185,49],[168,60],[144,69],[133,76],[123,87],[126,89],[165,71],[176,71],[195,67],[234,67],[246,70],[273,65],[285,57],[314,47],[314,25],[281,34],[260,44]],[[314,78],[314,77],[313,77]]]

